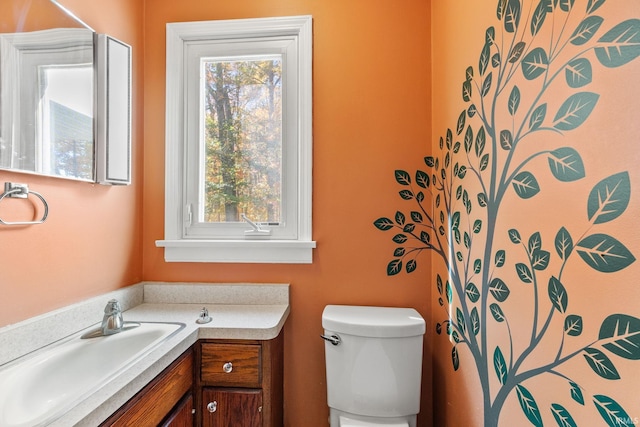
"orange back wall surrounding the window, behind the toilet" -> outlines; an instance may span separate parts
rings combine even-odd
[[[321,313],[327,304],[412,306],[428,318],[427,257],[386,276],[391,236],[372,223],[402,202],[394,169],[416,167],[430,136],[429,3],[424,0],[153,0],[145,14],[145,280],[291,284],[285,326],[285,425],[327,425]],[[165,24],[313,15],[314,162],[310,265],[165,263]],[[432,331],[428,325],[429,332]],[[427,336],[427,340],[429,336]],[[427,347],[427,355],[430,353]],[[425,357],[421,426],[430,422]]]

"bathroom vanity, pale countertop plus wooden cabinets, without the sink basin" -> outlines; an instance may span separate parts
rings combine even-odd
[[[0,328],[0,373],[91,329],[115,298],[125,321],[184,326],[44,425],[282,426],[288,291],[277,284],[138,284]],[[208,323],[197,322],[203,307]],[[52,324],[61,330],[47,330]]]

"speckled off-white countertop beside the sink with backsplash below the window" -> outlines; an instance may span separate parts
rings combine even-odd
[[[142,286],[145,294],[143,301],[123,312],[125,321],[179,322],[186,326],[145,357],[103,384],[49,424],[50,426],[95,427],[125,404],[198,339],[270,340],[278,336],[289,315],[288,285],[144,284]],[[279,296],[265,297],[270,290],[274,290]],[[212,294],[218,295],[212,297]],[[253,296],[247,297],[248,294]],[[223,296],[220,297],[220,295]],[[106,297],[108,295],[102,299]],[[169,300],[180,303],[164,302]],[[234,304],[235,301],[241,303]],[[196,320],[203,307],[209,311],[212,321],[199,324]],[[92,327],[95,325],[87,329]],[[2,332],[0,330],[0,341],[2,341]]]

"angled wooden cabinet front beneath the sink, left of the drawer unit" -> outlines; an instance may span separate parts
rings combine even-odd
[[[191,406],[188,408],[180,407],[180,403],[185,398],[189,400],[193,386],[194,362],[194,352],[189,349],[103,422],[102,426],[158,426],[164,419],[171,418],[179,411],[182,411],[183,415],[185,412],[191,414],[193,400],[191,399]],[[182,425],[189,424],[176,423],[175,427]],[[193,425],[193,421],[190,425]]]

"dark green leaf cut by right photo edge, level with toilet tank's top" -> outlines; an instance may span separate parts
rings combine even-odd
[[[602,346],[611,353],[629,360],[640,360],[640,319],[626,314],[612,314],[600,326],[600,340],[610,340]]]

